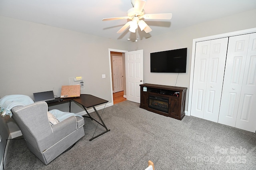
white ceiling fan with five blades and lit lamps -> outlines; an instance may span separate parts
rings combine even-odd
[[[172,18],[172,14],[145,14],[144,6],[146,4],[146,0],[131,0],[133,8],[128,10],[127,16],[123,17],[114,17],[114,18],[104,18],[102,21],[109,21],[109,20],[121,20],[121,19],[129,19],[131,21],[127,22],[117,33],[122,33],[126,28],[129,28],[130,32],[135,33],[138,29],[144,30],[146,33],[152,31],[152,29],[146,24],[144,19],[160,19],[160,20],[170,20]],[[137,39],[137,38],[136,38]]]

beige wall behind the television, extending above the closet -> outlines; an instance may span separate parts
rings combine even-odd
[[[144,50],[144,83],[188,87],[190,82],[190,65],[193,39],[256,28],[256,9],[226,18],[205,22],[188,28],[159,34],[148,39],[133,43],[131,50]],[[153,30],[154,31],[154,30]],[[186,73],[150,73],[150,53],[188,47]],[[188,91],[186,97],[188,110]]]

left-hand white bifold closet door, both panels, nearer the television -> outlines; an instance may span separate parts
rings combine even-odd
[[[228,38],[196,43],[191,115],[218,122]]]

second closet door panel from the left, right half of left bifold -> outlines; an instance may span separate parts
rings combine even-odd
[[[218,122],[228,38],[211,40],[203,119]]]

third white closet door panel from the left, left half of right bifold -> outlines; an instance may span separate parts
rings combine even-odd
[[[218,123],[235,127],[250,35],[230,37]]]

